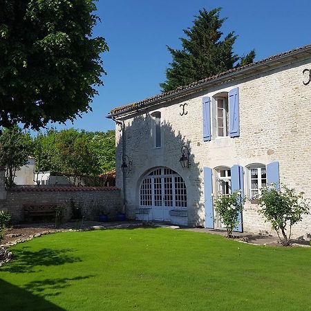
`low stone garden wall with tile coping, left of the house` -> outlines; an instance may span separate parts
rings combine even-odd
[[[63,220],[73,217],[73,208],[81,209],[86,220],[98,220],[100,211],[113,219],[121,212],[120,189],[116,187],[17,186],[6,191],[1,208],[12,216],[12,223],[25,221],[24,205],[63,207]]]

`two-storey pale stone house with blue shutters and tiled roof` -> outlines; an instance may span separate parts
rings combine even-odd
[[[241,189],[238,231],[270,232],[256,211],[261,187],[311,199],[310,79],[308,45],[113,109],[127,216],[221,228],[213,196]],[[308,215],[294,236],[310,232]]]

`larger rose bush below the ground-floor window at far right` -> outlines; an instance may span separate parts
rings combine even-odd
[[[261,189],[258,205],[260,208],[258,212],[265,217],[265,221],[271,223],[281,243],[285,246],[290,245],[292,225],[299,223],[303,214],[309,214],[310,211],[309,201],[303,198],[303,192],[296,194],[294,189],[286,185],[275,189],[272,184]],[[289,233],[287,233],[288,227]]]

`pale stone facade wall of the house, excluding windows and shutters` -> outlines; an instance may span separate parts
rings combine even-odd
[[[124,122],[124,151],[132,161],[126,174],[126,212],[137,217],[140,207],[140,183],[152,168],[168,167],[185,180],[187,187],[187,221],[189,226],[204,225],[205,194],[203,168],[244,168],[245,194],[249,194],[247,166],[279,162],[280,180],[305,192],[311,199],[311,83],[303,84],[303,70],[311,69],[311,56],[288,59],[274,66],[261,66],[257,72],[236,75],[221,84],[207,84],[200,90],[167,99],[131,113],[119,113]],[[239,88],[240,135],[236,138],[215,138],[211,124],[211,140],[202,139],[202,97]],[[182,114],[182,106],[187,114]],[[214,103],[211,103],[214,105]],[[212,108],[213,111],[214,108]],[[161,113],[162,147],[154,146],[154,112]],[[211,119],[213,119],[211,112]],[[116,127],[117,187],[122,188],[122,131]],[[189,168],[180,166],[180,148],[190,151]],[[256,212],[257,205],[247,202],[243,211],[246,232],[271,232],[270,225]],[[311,216],[294,227],[294,236],[311,232]]]

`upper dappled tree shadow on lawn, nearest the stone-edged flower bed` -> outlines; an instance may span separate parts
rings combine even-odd
[[[23,247],[14,251],[13,262],[2,267],[0,271],[12,273],[29,273],[35,272],[35,267],[41,265],[64,265],[65,263],[77,263],[82,261],[79,257],[72,256],[76,249],[40,249],[37,252],[27,250]]]

